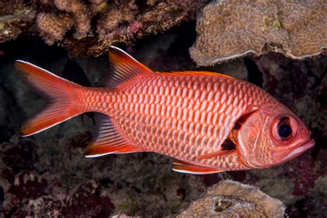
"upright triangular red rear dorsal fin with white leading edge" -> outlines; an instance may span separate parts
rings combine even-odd
[[[137,75],[153,73],[150,68],[115,46],[110,46],[109,61],[111,75],[106,79],[108,88],[117,88],[123,82]]]

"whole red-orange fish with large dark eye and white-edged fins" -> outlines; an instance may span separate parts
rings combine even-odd
[[[156,152],[172,170],[204,175],[270,168],[315,146],[295,113],[264,89],[217,72],[157,72],[120,48],[109,49],[104,87],[86,87],[32,63],[15,66],[48,105],[23,122],[28,137],[97,112],[86,157]]]

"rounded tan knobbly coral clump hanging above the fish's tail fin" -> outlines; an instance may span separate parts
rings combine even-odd
[[[69,14],[39,13],[37,15],[40,36],[49,45],[54,41],[61,41],[73,24],[74,21]]]

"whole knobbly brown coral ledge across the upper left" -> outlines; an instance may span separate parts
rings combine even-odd
[[[115,43],[132,43],[195,19],[209,0],[0,0],[0,43],[21,33],[59,43],[70,56],[97,57]]]

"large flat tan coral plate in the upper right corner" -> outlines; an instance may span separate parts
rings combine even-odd
[[[281,52],[293,59],[327,48],[327,1],[215,1],[197,19],[190,55],[210,66],[252,53]]]

